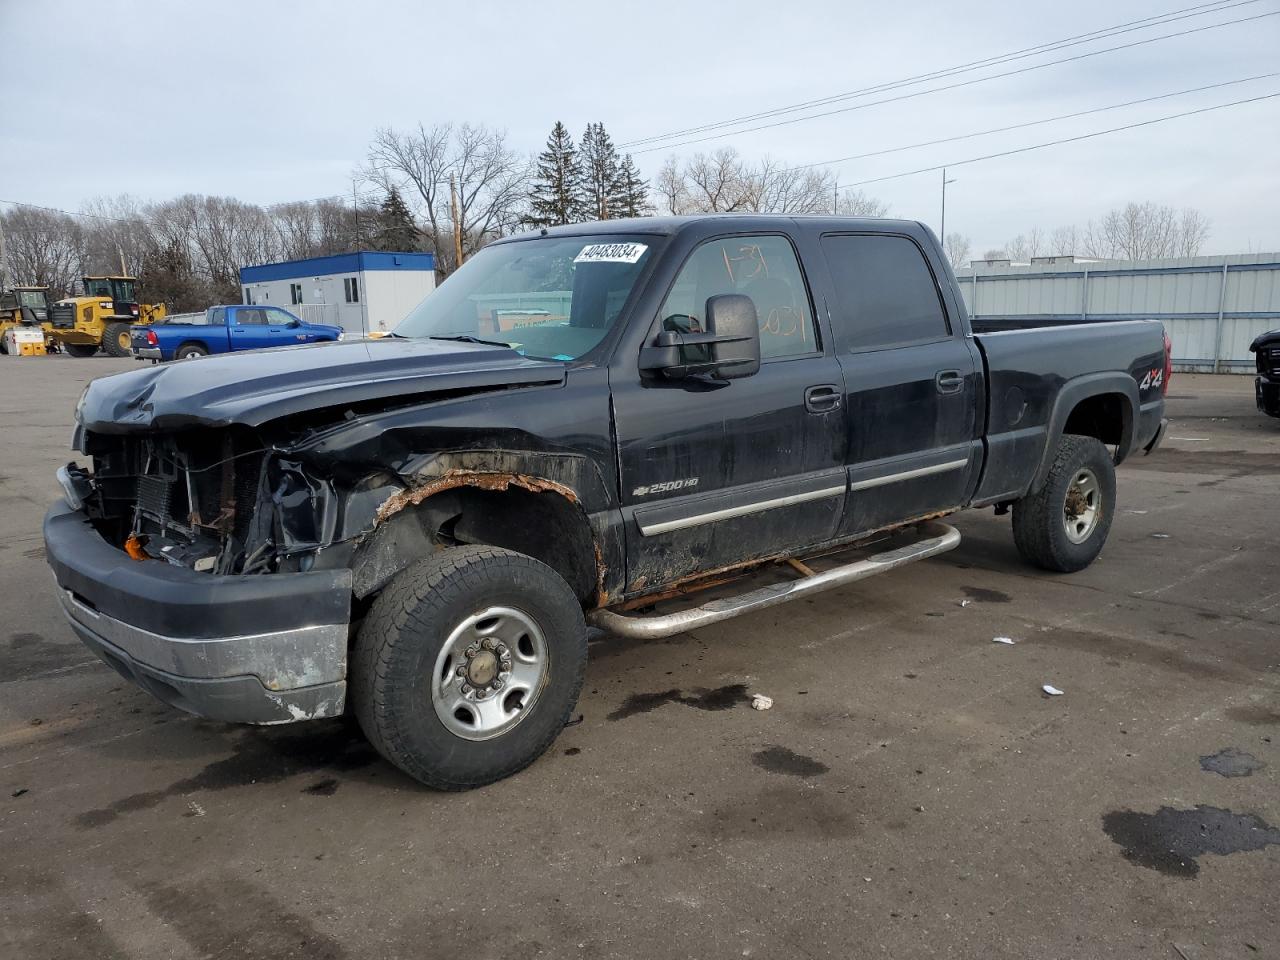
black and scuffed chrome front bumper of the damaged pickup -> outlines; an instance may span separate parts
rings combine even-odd
[[[45,552],[77,636],[160,700],[241,723],[343,712],[351,571],[220,577],[138,562],[65,503],[45,516]]]

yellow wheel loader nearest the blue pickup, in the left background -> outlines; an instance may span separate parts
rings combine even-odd
[[[58,301],[50,315],[49,339],[73,357],[129,356],[129,328],[164,319],[164,303],[138,303],[133,276],[86,276],[84,294]]]

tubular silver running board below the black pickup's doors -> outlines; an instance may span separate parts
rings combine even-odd
[[[919,524],[916,530],[922,539],[895,550],[877,553],[842,567],[824,570],[800,580],[786,584],[771,584],[758,590],[730,596],[721,600],[712,600],[701,607],[694,607],[676,613],[664,613],[654,617],[627,617],[612,611],[594,611],[588,620],[600,630],[607,630],[617,636],[631,640],[660,640],[667,636],[682,634],[695,627],[705,627],[708,623],[718,623],[750,611],[760,611],[765,607],[774,607],[797,596],[831,590],[835,586],[852,584],[856,580],[887,573],[908,563],[936,557],[940,553],[954,550],[960,545],[960,531],[950,524],[931,521]]]

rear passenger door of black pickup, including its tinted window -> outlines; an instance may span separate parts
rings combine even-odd
[[[842,535],[964,504],[982,466],[982,364],[909,236],[826,233],[849,410]],[[941,269],[941,266],[938,268]]]

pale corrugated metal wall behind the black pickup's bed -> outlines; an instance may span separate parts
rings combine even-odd
[[[1161,320],[1180,370],[1249,372],[1249,343],[1280,328],[1280,253],[974,261],[956,279],[970,315],[982,320]]]

